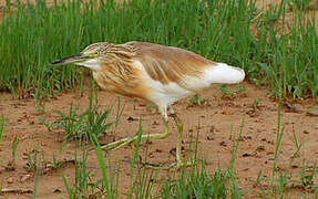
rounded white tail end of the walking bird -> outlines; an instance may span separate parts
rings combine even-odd
[[[245,77],[245,72],[225,63],[217,63],[208,70],[211,84],[237,84]]]

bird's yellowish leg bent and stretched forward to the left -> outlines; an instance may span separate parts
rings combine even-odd
[[[170,134],[170,129],[168,129],[168,123],[166,119],[164,119],[164,130],[163,133],[161,134],[145,134],[145,135],[142,135],[142,139],[152,139],[152,138],[157,138],[157,139],[163,139],[165,137],[167,137]],[[106,144],[104,146],[102,146],[102,149],[104,150],[113,150],[113,149],[117,149],[117,148],[121,148],[127,144],[131,144],[133,142],[136,142],[137,140],[137,135],[136,136],[133,136],[133,137],[125,137],[123,139],[120,139],[120,140],[116,140],[116,142],[113,142],[113,143],[110,143],[110,144]]]

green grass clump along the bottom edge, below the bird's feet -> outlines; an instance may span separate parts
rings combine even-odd
[[[117,187],[120,166],[117,168],[107,165],[105,156],[102,153],[101,146],[95,134],[90,134],[91,143],[100,166],[101,178],[92,179],[91,172],[88,169],[88,148],[79,148],[75,150],[75,174],[73,180],[68,180],[63,171],[61,176],[69,195],[69,198],[240,198],[240,191],[235,178],[233,168],[223,171],[216,169],[214,174],[206,170],[206,164],[198,161],[191,168],[182,168],[181,171],[168,171],[167,176],[160,180],[161,170],[148,170],[141,167],[139,163],[140,144],[142,135],[142,123],[137,130],[139,139],[134,149],[134,155],[131,160],[130,171],[130,188],[127,192],[119,192]],[[81,142],[76,139],[75,142]],[[236,153],[236,151],[234,151]],[[82,154],[82,155],[80,155]],[[111,154],[109,154],[111,158]],[[107,156],[107,157],[109,157]],[[134,174],[135,172],[135,174]],[[129,177],[127,177],[129,178]],[[158,187],[155,189],[155,185]]]

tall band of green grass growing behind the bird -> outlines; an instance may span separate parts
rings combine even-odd
[[[16,0],[17,11],[1,11],[8,17],[0,24],[0,91],[40,97],[82,85],[82,69],[52,69],[48,63],[93,42],[141,40],[238,65],[252,82],[269,85],[276,97],[317,97],[317,28],[305,20],[302,9],[289,9],[299,7],[295,2],[263,12],[243,0],[99,1],[100,7],[94,0],[70,0],[51,8],[43,0],[37,6]],[[288,25],[287,12],[294,13]],[[274,23],[279,19],[288,31]]]

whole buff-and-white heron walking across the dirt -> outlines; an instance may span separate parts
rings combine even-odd
[[[178,169],[191,165],[181,158],[183,123],[172,105],[213,84],[237,84],[244,81],[244,70],[214,62],[194,52],[142,41],[123,44],[98,42],[80,53],[51,62],[51,65],[74,64],[88,67],[98,85],[110,93],[137,97],[155,104],[163,117],[162,133],[144,134],[142,139],[164,139],[170,134],[168,116],[177,127],[176,160],[158,168]],[[102,146],[113,150],[136,142],[125,137]],[[151,167],[151,166],[150,166]]]

